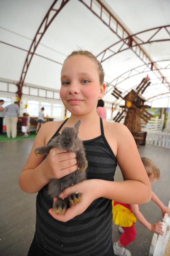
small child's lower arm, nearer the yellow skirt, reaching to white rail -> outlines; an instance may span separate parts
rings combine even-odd
[[[138,221],[145,227],[147,228],[149,231],[154,232],[156,234],[160,234],[163,235],[164,232],[162,230],[163,224],[161,221],[158,221],[156,223],[149,223],[144,215],[139,211],[139,207],[138,205],[130,205],[132,212],[134,213],[136,219],[138,219]]]

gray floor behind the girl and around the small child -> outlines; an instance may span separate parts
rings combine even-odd
[[[34,236],[36,194],[24,193],[18,186],[18,177],[32,144],[32,139],[0,142],[1,256],[26,256]],[[160,200],[168,205],[170,200],[170,149],[146,145],[140,146],[139,152],[140,156],[150,158],[159,167],[161,178],[152,185],[152,189]],[[115,180],[121,179],[121,171],[117,168]],[[140,211],[151,223],[162,219],[160,209],[152,201],[140,205]],[[132,256],[147,256],[153,234],[138,222],[136,230],[136,240],[127,248]],[[113,242],[118,240],[119,236],[118,227],[113,224]]]

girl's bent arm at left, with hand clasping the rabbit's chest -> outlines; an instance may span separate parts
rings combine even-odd
[[[49,126],[51,125],[49,123],[51,122],[47,122],[40,128],[30,156],[19,177],[20,188],[27,193],[36,193],[52,179],[59,179],[77,169],[74,152],[65,152],[65,150],[55,150],[53,148],[45,159],[44,155],[36,156],[34,154],[36,147],[45,146],[46,133],[50,130]]]

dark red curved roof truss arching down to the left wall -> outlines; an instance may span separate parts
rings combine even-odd
[[[51,24],[51,22],[54,20],[54,18],[57,16],[57,14],[60,12],[60,10],[62,10],[62,8],[68,3],[69,0],[62,0],[62,2],[60,3],[60,6],[58,7],[58,9],[55,8],[55,4],[57,2],[59,2],[58,0],[54,0],[53,4],[50,6],[48,12],[46,13],[44,19],[42,20],[36,35],[32,41],[32,44],[30,46],[30,49],[28,51],[28,54],[26,56],[26,60],[24,63],[24,67],[22,69],[22,73],[21,73],[21,77],[20,77],[20,81],[17,84],[18,89],[19,87],[22,87],[25,77],[26,77],[26,73],[28,71],[30,62],[32,60],[33,55],[35,54],[36,48],[38,46],[38,44],[40,43],[40,40],[42,39],[44,33],[46,32],[48,26]],[[21,97],[21,95],[19,95]]]

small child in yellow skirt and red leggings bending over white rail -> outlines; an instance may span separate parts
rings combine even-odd
[[[153,182],[157,181],[160,178],[160,171],[158,167],[150,159],[146,157],[141,157],[141,160],[146,169],[146,173],[148,174],[150,183],[152,184]],[[153,191],[151,200],[154,201],[160,207],[163,216],[165,213],[168,213],[170,215],[170,208],[166,207]],[[160,235],[164,234],[162,230],[162,222],[158,221],[153,224],[149,223],[144,218],[142,213],[139,211],[139,206],[137,204],[134,205],[113,201],[112,205],[114,223],[116,225],[120,225],[119,231],[122,233],[119,240],[113,245],[114,253],[116,255],[131,255],[130,251],[125,249],[124,246],[130,244],[136,237],[136,229],[134,226],[136,219],[138,219],[138,221],[140,221],[140,223],[151,232]]]

